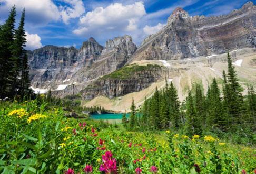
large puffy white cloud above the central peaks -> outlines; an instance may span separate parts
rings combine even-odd
[[[146,14],[143,2],[130,5],[121,3],[97,7],[80,18],[80,27],[73,32],[77,35],[92,34],[102,31],[134,31],[139,19]]]

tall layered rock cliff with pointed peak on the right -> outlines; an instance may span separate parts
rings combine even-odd
[[[142,42],[133,60],[175,60],[256,47],[256,6],[252,2],[229,15],[190,17],[176,8],[167,25]]]

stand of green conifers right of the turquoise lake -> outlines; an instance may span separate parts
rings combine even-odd
[[[130,129],[182,129],[186,135],[201,135],[205,131],[227,133],[242,130],[245,136],[251,136],[256,128],[256,94],[253,86],[248,86],[248,95],[242,95],[232,60],[228,53],[228,72],[223,71],[223,84],[220,89],[216,79],[208,87],[206,95],[199,84],[195,90],[188,91],[183,104],[173,83],[166,81],[165,88],[157,90],[150,99],[146,99],[141,110],[142,116],[130,117]],[[132,115],[135,112],[132,104]],[[136,124],[134,124],[137,122]],[[136,126],[137,125],[137,126]],[[247,132],[250,135],[247,135]],[[254,137],[255,139],[255,137]]]

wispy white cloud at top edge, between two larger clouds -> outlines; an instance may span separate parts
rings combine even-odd
[[[63,0],[71,5],[71,7],[60,6],[60,14],[63,22],[68,24],[71,18],[80,17],[84,14],[85,8],[82,0]]]

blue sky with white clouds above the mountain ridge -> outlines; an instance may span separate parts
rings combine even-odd
[[[160,30],[176,7],[189,15],[219,16],[239,9],[248,0],[0,0],[0,24],[14,4],[18,14],[26,9],[27,49],[45,45],[75,46],[94,37],[107,39],[131,35],[139,45]],[[256,4],[256,0],[252,1]],[[17,21],[19,19],[17,16]]]

